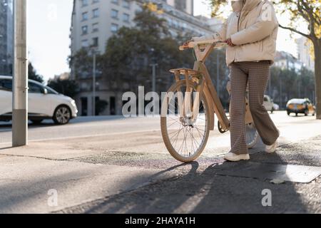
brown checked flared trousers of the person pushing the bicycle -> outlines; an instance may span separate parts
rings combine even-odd
[[[270,61],[232,63],[230,73],[230,142],[235,154],[248,153],[245,135],[245,92],[249,86],[249,105],[255,127],[265,145],[272,145],[280,136],[263,106],[270,77]]]

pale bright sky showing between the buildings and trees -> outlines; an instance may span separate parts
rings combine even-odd
[[[195,2],[195,15],[210,16],[210,7],[204,0]],[[73,0],[28,0],[29,60],[36,71],[47,81],[55,75],[70,71],[70,27]],[[279,17],[281,23],[286,19]],[[278,51],[287,51],[296,56],[296,46],[290,33],[280,29]]]

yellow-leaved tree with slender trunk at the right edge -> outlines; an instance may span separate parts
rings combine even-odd
[[[218,15],[227,0],[209,0],[213,14]],[[317,119],[321,119],[321,1],[320,0],[275,0],[280,15],[290,13],[290,24],[280,24],[281,28],[305,36],[313,43],[315,56],[315,92],[317,100]],[[300,21],[306,26],[298,27]]]

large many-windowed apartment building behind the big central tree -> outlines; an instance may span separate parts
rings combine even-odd
[[[167,21],[170,33],[189,33],[191,36],[204,36],[213,33],[221,24],[217,19],[193,16],[193,0],[74,0],[71,25],[71,55],[81,48],[96,46],[103,53],[106,42],[122,26],[133,27],[133,19],[144,3],[153,3]],[[93,115],[92,73],[76,76],[71,69],[71,78],[78,81],[81,93],[76,103],[81,115]],[[121,100],[97,78],[96,99],[106,100],[108,107],[101,115],[121,114]]]

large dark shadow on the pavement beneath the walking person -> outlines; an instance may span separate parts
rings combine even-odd
[[[276,164],[284,161],[273,156]],[[251,160],[251,162],[255,162]],[[222,175],[222,170],[233,170],[248,162],[213,164],[202,168],[198,162],[175,165],[164,172],[189,167],[178,177],[162,180],[131,192],[121,193],[66,209],[81,213],[307,213],[295,184],[274,185],[270,180]],[[265,167],[260,163],[258,172]],[[263,207],[263,190],[272,192],[272,207]]]

